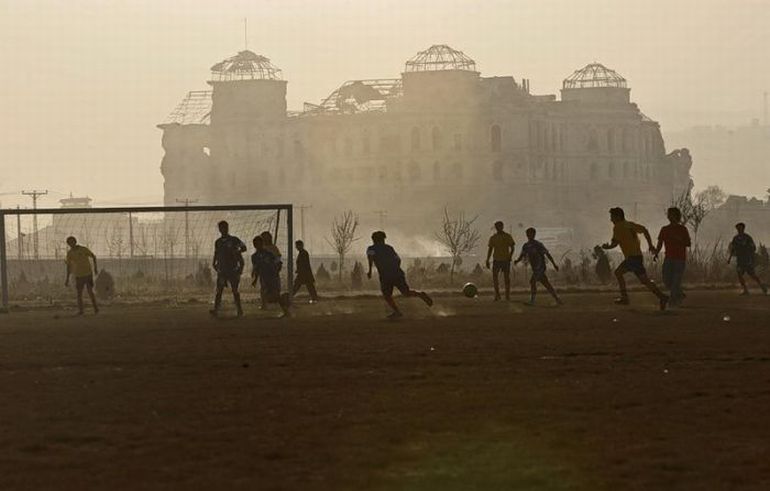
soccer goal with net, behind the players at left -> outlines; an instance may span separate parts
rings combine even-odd
[[[69,301],[64,288],[67,237],[98,260],[97,295],[127,302],[211,295],[217,224],[248,247],[244,286],[251,270],[252,239],[270,232],[282,255],[284,285],[292,277],[292,205],[63,207],[0,210],[2,307]],[[244,288],[245,290],[245,288]]]

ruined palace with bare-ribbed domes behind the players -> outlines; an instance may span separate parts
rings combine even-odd
[[[226,62],[235,68],[223,75]],[[286,82],[257,65],[269,60],[244,51],[226,62],[212,68],[208,111],[209,93],[195,93],[159,125],[169,205],[311,205],[321,234],[353,209],[368,235],[387,210],[388,230],[428,238],[448,207],[484,230],[500,218],[590,244],[606,239],[610,206],[657,223],[690,185],[689,153],[667,154],[658,123],[599,64],[565,80],[559,100],[433,46],[398,79],[347,82],[289,113]]]

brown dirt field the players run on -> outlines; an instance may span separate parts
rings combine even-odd
[[[770,298],[611,299],[0,316],[0,489],[770,488]]]

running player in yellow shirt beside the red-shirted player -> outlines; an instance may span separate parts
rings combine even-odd
[[[620,298],[615,300],[619,305],[628,305],[628,291],[626,290],[626,280],[623,275],[634,273],[639,281],[642,282],[656,297],[660,303],[660,310],[666,310],[668,297],[660,291],[644,269],[644,257],[642,256],[642,247],[639,243],[639,234],[643,234],[647,239],[650,251],[655,252],[655,246],[652,244],[650,232],[642,225],[626,220],[626,214],[622,208],[610,209],[610,220],[614,224],[612,229],[612,240],[602,245],[602,249],[614,249],[620,246],[620,250],[625,257],[624,261],[615,269],[615,277],[618,280],[620,288]]]

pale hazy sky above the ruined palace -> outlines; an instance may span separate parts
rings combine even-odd
[[[159,202],[155,124],[243,49],[244,17],[249,48],[283,69],[291,109],[345,80],[397,77],[437,43],[535,93],[602,62],[664,132],[748,124],[770,90],[765,0],[0,0],[0,193]]]

